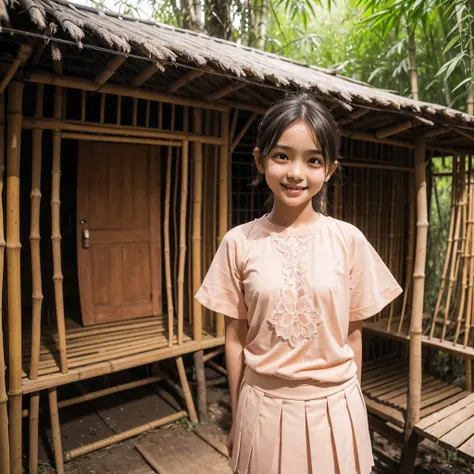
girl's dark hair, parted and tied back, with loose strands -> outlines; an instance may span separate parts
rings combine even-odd
[[[256,147],[265,159],[278,143],[288,127],[296,122],[304,122],[314,132],[321,146],[326,169],[339,159],[341,133],[331,112],[307,93],[290,94],[270,107],[258,126]],[[252,184],[263,181],[263,174],[257,173]],[[265,203],[273,204],[273,195]],[[313,209],[316,212],[327,212],[327,183],[321,191],[313,196]]]

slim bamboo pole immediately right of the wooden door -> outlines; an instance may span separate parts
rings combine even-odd
[[[165,186],[165,215],[163,223],[163,241],[165,256],[165,278],[166,278],[166,298],[168,308],[168,344],[173,345],[173,287],[171,278],[171,250],[170,250],[170,210],[171,210],[171,166],[172,166],[172,149],[168,147],[168,155],[166,161],[166,186]]]

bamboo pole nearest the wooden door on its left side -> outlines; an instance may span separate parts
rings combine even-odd
[[[54,118],[61,119],[62,111],[62,88],[55,88],[54,96]],[[54,297],[56,304],[56,323],[58,326],[59,354],[61,372],[68,371],[66,354],[66,326],[64,321],[64,296],[63,296],[63,274],[61,262],[61,132],[53,131],[53,165],[51,184],[51,242],[53,246],[53,281]]]

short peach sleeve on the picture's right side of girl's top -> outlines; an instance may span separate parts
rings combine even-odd
[[[350,271],[350,321],[370,318],[402,293],[390,270],[362,232],[354,235]]]

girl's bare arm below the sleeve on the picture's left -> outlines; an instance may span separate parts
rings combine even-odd
[[[225,359],[229,379],[232,421],[237,414],[239,388],[244,374],[244,347],[249,330],[247,320],[225,317]]]

